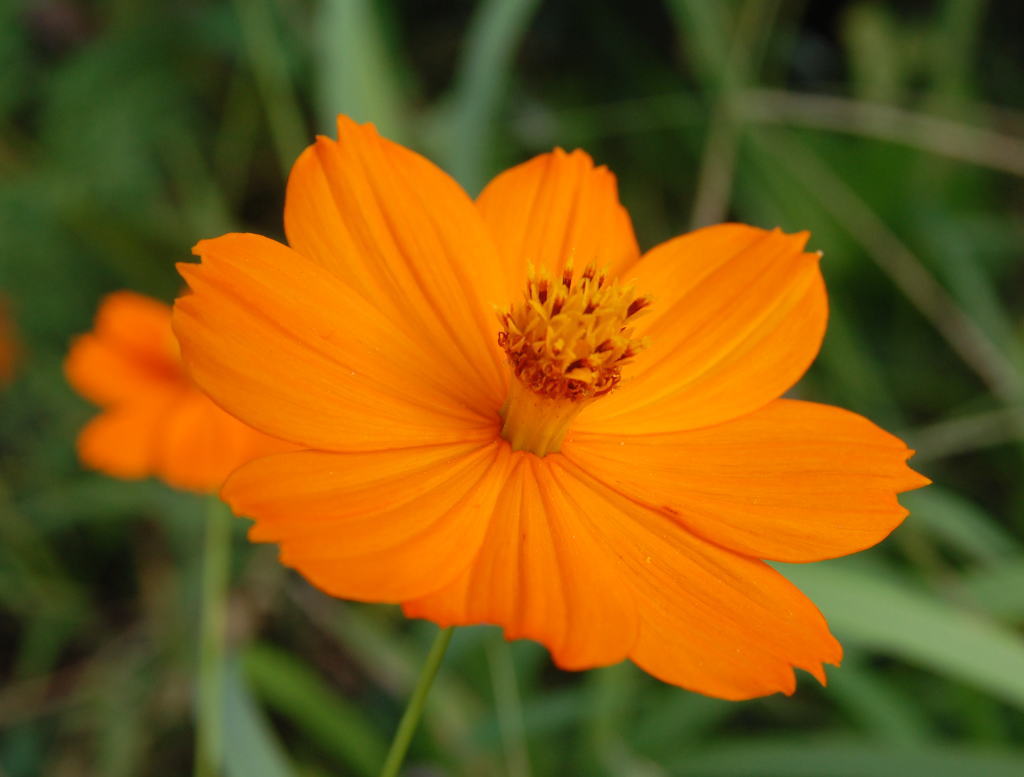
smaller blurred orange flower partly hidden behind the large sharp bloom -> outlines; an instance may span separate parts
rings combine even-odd
[[[108,475],[157,475],[177,488],[215,491],[239,465],[291,448],[196,388],[181,368],[170,306],[140,294],[103,299],[95,330],[72,343],[65,373],[103,407],[79,435],[78,452]]]

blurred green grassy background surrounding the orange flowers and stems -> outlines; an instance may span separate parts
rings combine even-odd
[[[1016,0],[0,3],[0,775],[190,772],[202,501],[83,472],[60,360],[104,292],[173,298],[200,238],[282,236],[339,112],[471,193],[585,147],[643,247],[810,229],[831,317],[796,393],[935,481],[882,547],[785,567],[846,646],[827,688],[729,703],[460,630],[409,774],[1024,774],[1022,29]],[[375,774],[434,628],[237,524],[226,773]]]

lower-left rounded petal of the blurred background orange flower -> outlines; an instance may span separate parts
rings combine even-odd
[[[138,480],[154,472],[161,433],[180,391],[152,391],[104,411],[82,429],[82,463],[113,477]]]

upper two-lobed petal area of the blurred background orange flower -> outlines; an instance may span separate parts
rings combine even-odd
[[[183,386],[170,306],[134,292],[108,295],[93,332],[73,341],[65,375],[76,391],[96,404]]]

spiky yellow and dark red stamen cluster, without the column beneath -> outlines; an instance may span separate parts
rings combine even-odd
[[[530,267],[522,302],[499,316],[498,344],[536,394],[592,399],[611,391],[623,365],[644,347],[632,327],[649,304],[592,264],[573,278],[569,262],[557,280]]]

